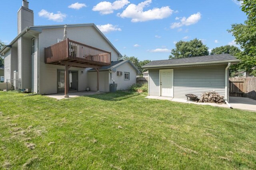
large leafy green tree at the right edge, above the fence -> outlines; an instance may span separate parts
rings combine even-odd
[[[256,0],[243,0],[241,7],[247,15],[247,20],[244,24],[232,24],[228,31],[242,48],[237,55],[238,59],[242,60],[240,68],[256,76],[256,69],[253,69],[256,68]]]

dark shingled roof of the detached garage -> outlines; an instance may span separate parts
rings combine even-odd
[[[230,54],[206,55],[200,57],[189,57],[182,59],[156,60],[142,66],[142,68],[184,66],[198,64],[217,64],[217,63],[238,63],[240,60]]]

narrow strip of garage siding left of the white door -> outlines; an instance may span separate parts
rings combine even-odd
[[[149,95],[159,96],[159,70],[148,70],[149,80]]]

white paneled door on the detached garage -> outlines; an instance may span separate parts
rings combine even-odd
[[[173,69],[160,70],[160,96],[173,97]]]

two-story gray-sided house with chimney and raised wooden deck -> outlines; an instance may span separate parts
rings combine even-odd
[[[26,0],[18,11],[18,35],[0,53],[4,55],[5,79],[12,80],[15,88],[28,88],[38,94],[65,92],[65,95],[87,87],[108,91],[108,84],[100,83],[110,83],[113,73],[102,75],[102,66],[110,66],[111,61],[122,57],[93,23],[34,26],[34,12]],[[134,72],[138,72],[128,63],[119,67],[120,71],[130,73],[129,80],[116,81],[120,90],[133,84]],[[96,70],[94,76],[88,74],[91,68]],[[125,76],[120,78],[124,80]]]

